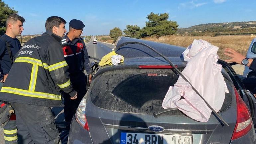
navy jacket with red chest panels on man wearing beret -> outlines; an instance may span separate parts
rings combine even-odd
[[[63,37],[61,43],[70,75],[83,71],[84,69],[89,74],[91,68],[88,63],[90,61],[83,39],[75,38],[71,41],[66,35]]]

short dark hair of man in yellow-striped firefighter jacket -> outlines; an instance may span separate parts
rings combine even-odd
[[[46,31],[53,31],[53,27],[59,27],[61,23],[66,24],[67,22],[58,16],[51,16],[49,18],[47,18],[46,22],[45,22],[45,29]]]

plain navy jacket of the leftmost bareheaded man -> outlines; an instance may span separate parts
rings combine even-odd
[[[8,54],[8,51],[6,48],[6,41],[11,50],[11,55]],[[14,61],[13,58],[20,49],[21,49],[21,44],[17,38],[12,38],[10,36],[7,36],[6,34],[1,36],[0,38],[0,72],[1,72],[0,80],[3,79],[3,75],[6,75],[9,73],[12,65],[10,58]]]

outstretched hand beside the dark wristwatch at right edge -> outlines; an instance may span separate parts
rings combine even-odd
[[[224,54],[226,56],[231,57],[231,59],[225,60],[226,62],[236,62],[238,64],[242,64],[242,60],[245,59],[245,56],[243,56],[242,54],[236,52],[231,48],[226,48]]]

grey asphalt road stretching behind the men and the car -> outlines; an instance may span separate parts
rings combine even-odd
[[[114,48],[114,45],[97,42],[97,44],[93,44],[92,41],[86,43],[86,48],[88,51],[88,55],[95,57],[97,59],[101,59],[104,55],[111,52]],[[94,60],[90,59],[90,62]],[[86,71],[84,71],[86,73]],[[56,122],[63,122],[64,121],[64,110],[62,107],[53,107],[52,110],[55,113],[55,121]],[[3,128],[0,128],[0,144],[4,144],[4,133]]]

